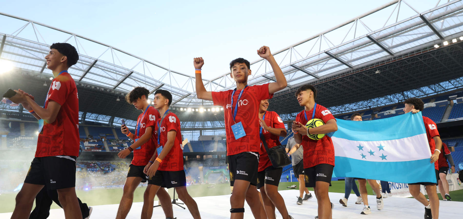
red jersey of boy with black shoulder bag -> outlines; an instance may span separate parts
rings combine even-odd
[[[270,128],[286,128],[280,116],[278,116],[278,114],[275,113],[274,111],[267,111],[265,113],[264,121],[265,121],[265,124],[267,124],[267,126],[269,126]],[[275,146],[282,145],[280,143],[280,136],[271,134],[269,131],[266,131],[265,129],[262,129],[262,133],[263,133],[263,137],[265,138],[265,142],[267,143],[267,147],[272,148]],[[259,152],[260,156],[259,156],[259,168],[258,168],[259,172],[265,170],[265,168],[272,165],[269,159],[269,155],[267,154],[267,150],[265,150],[265,147],[263,146],[263,144],[261,144],[260,149],[261,150]]]

